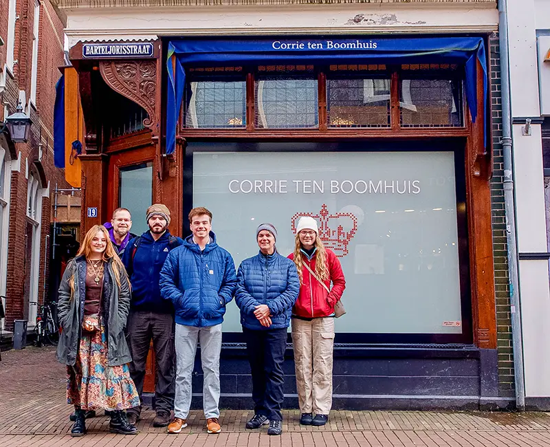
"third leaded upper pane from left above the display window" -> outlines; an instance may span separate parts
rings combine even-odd
[[[389,127],[390,80],[327,80],[329,127]]]

